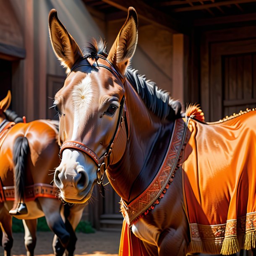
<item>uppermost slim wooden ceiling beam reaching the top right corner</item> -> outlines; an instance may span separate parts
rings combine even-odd
[[[224,2],[204,4],[204,5],[180,7],[180,8],[175,8],[172,11],[175,13],[179,13],[179,12],[185,12],[185,11],[191,11],[191,10],[204,10],[207,8],[219,7],[219,6],[223,6],[223,5],[235,5],[235,4],[240,4],[240,3],[251,3],[251,2],[255,2],[255,0],[229,0],[229,1],[224,1]]]

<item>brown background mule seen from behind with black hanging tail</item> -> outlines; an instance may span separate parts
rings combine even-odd
[[[13,246],[13,215],[23,220],[28,256],[34,255],[37,218],[42,216],[55,233],[55,255],[63,255],[65,249],[68,255],[73,255],[76,243],[74,230],[84,206],[67,205],[64,209],[56,197],[57,188],[51,185],[53,175],[50,174],[60,161],[58,124],[51,120],[9,121],[8,117],[20,121],[13,112],[5,112],[10,100],[8,91],[0,102],[0,222],[5,256],[10,255]],[[18,200],[14,201],[15,198]],[[65,223],[63,218],[66,218]]]

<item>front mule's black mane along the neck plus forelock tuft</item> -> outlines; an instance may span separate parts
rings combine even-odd
[[[102,39],[95,39],[84,48],[84,56],[95,58],[100,54],[107,57],[107,44]],[[168,91],[160,89],[153,81],[147,81],[145,76],[138,74],[137,70],[126,69],[126,76],[133,88],[140,95],[149,110],[162,120],[180,118],[181,104],[170,96]]]

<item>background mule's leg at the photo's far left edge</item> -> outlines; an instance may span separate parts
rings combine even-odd
[[[5,209],[4,204],[0,204],[0,222],[3,231],[2,246],[4,255],[10,256],[10,250],[13,247],[12,217]]]

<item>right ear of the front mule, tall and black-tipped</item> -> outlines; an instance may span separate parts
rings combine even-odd
[[[138,42],[138,16],[133,7],[129,7],[128,16],[110,49],[108,60],[117,65],[124,74],[129,60],[133,56]]]

